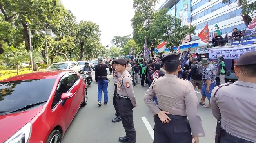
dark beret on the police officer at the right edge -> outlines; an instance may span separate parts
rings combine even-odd
[[[235,66],[245,66],[249,64],[256,64],[256,51],[246,52],[239,57]]]

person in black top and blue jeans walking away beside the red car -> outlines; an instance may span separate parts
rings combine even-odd
[[[95,81],[98,84],[98,105],[101,106],[102,101],[102,90],[104,92],[104,104],[106,105],[108,102],[107,96],[107,86],[108,86],[108,78],[107,78],[107,64],[103,64],[103,58],[98,57],[98,64],[95,66]]]

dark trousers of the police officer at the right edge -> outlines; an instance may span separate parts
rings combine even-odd
[[[233,136],[232,134],[229,134],[225,130],[221,129],[220,143],[253,143],[253,142],[247,141],[242,138],[238,138],[237,136]]]

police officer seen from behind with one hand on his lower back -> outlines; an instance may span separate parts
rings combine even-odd
[[[162,59],[166,74],[153,80],[144,96],[154,115],[154,143],[192,143],[192,138],[198,143],[198,137],[205,136],[194,87],[178,78],[179,57],[180,54],[171,53]],[[155,95],[158,106],[152,100]]]

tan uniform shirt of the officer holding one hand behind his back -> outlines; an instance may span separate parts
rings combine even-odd
[[[153,101],[155,95],[158,105]],[[177,75],[165,74],[153,81],[145,93],[144,102],[153,115],[163,110],[173,115],[187,116],[192,134],[205,136],[201,118],[197,112],[198,99],[191,82],[180,79]]]

